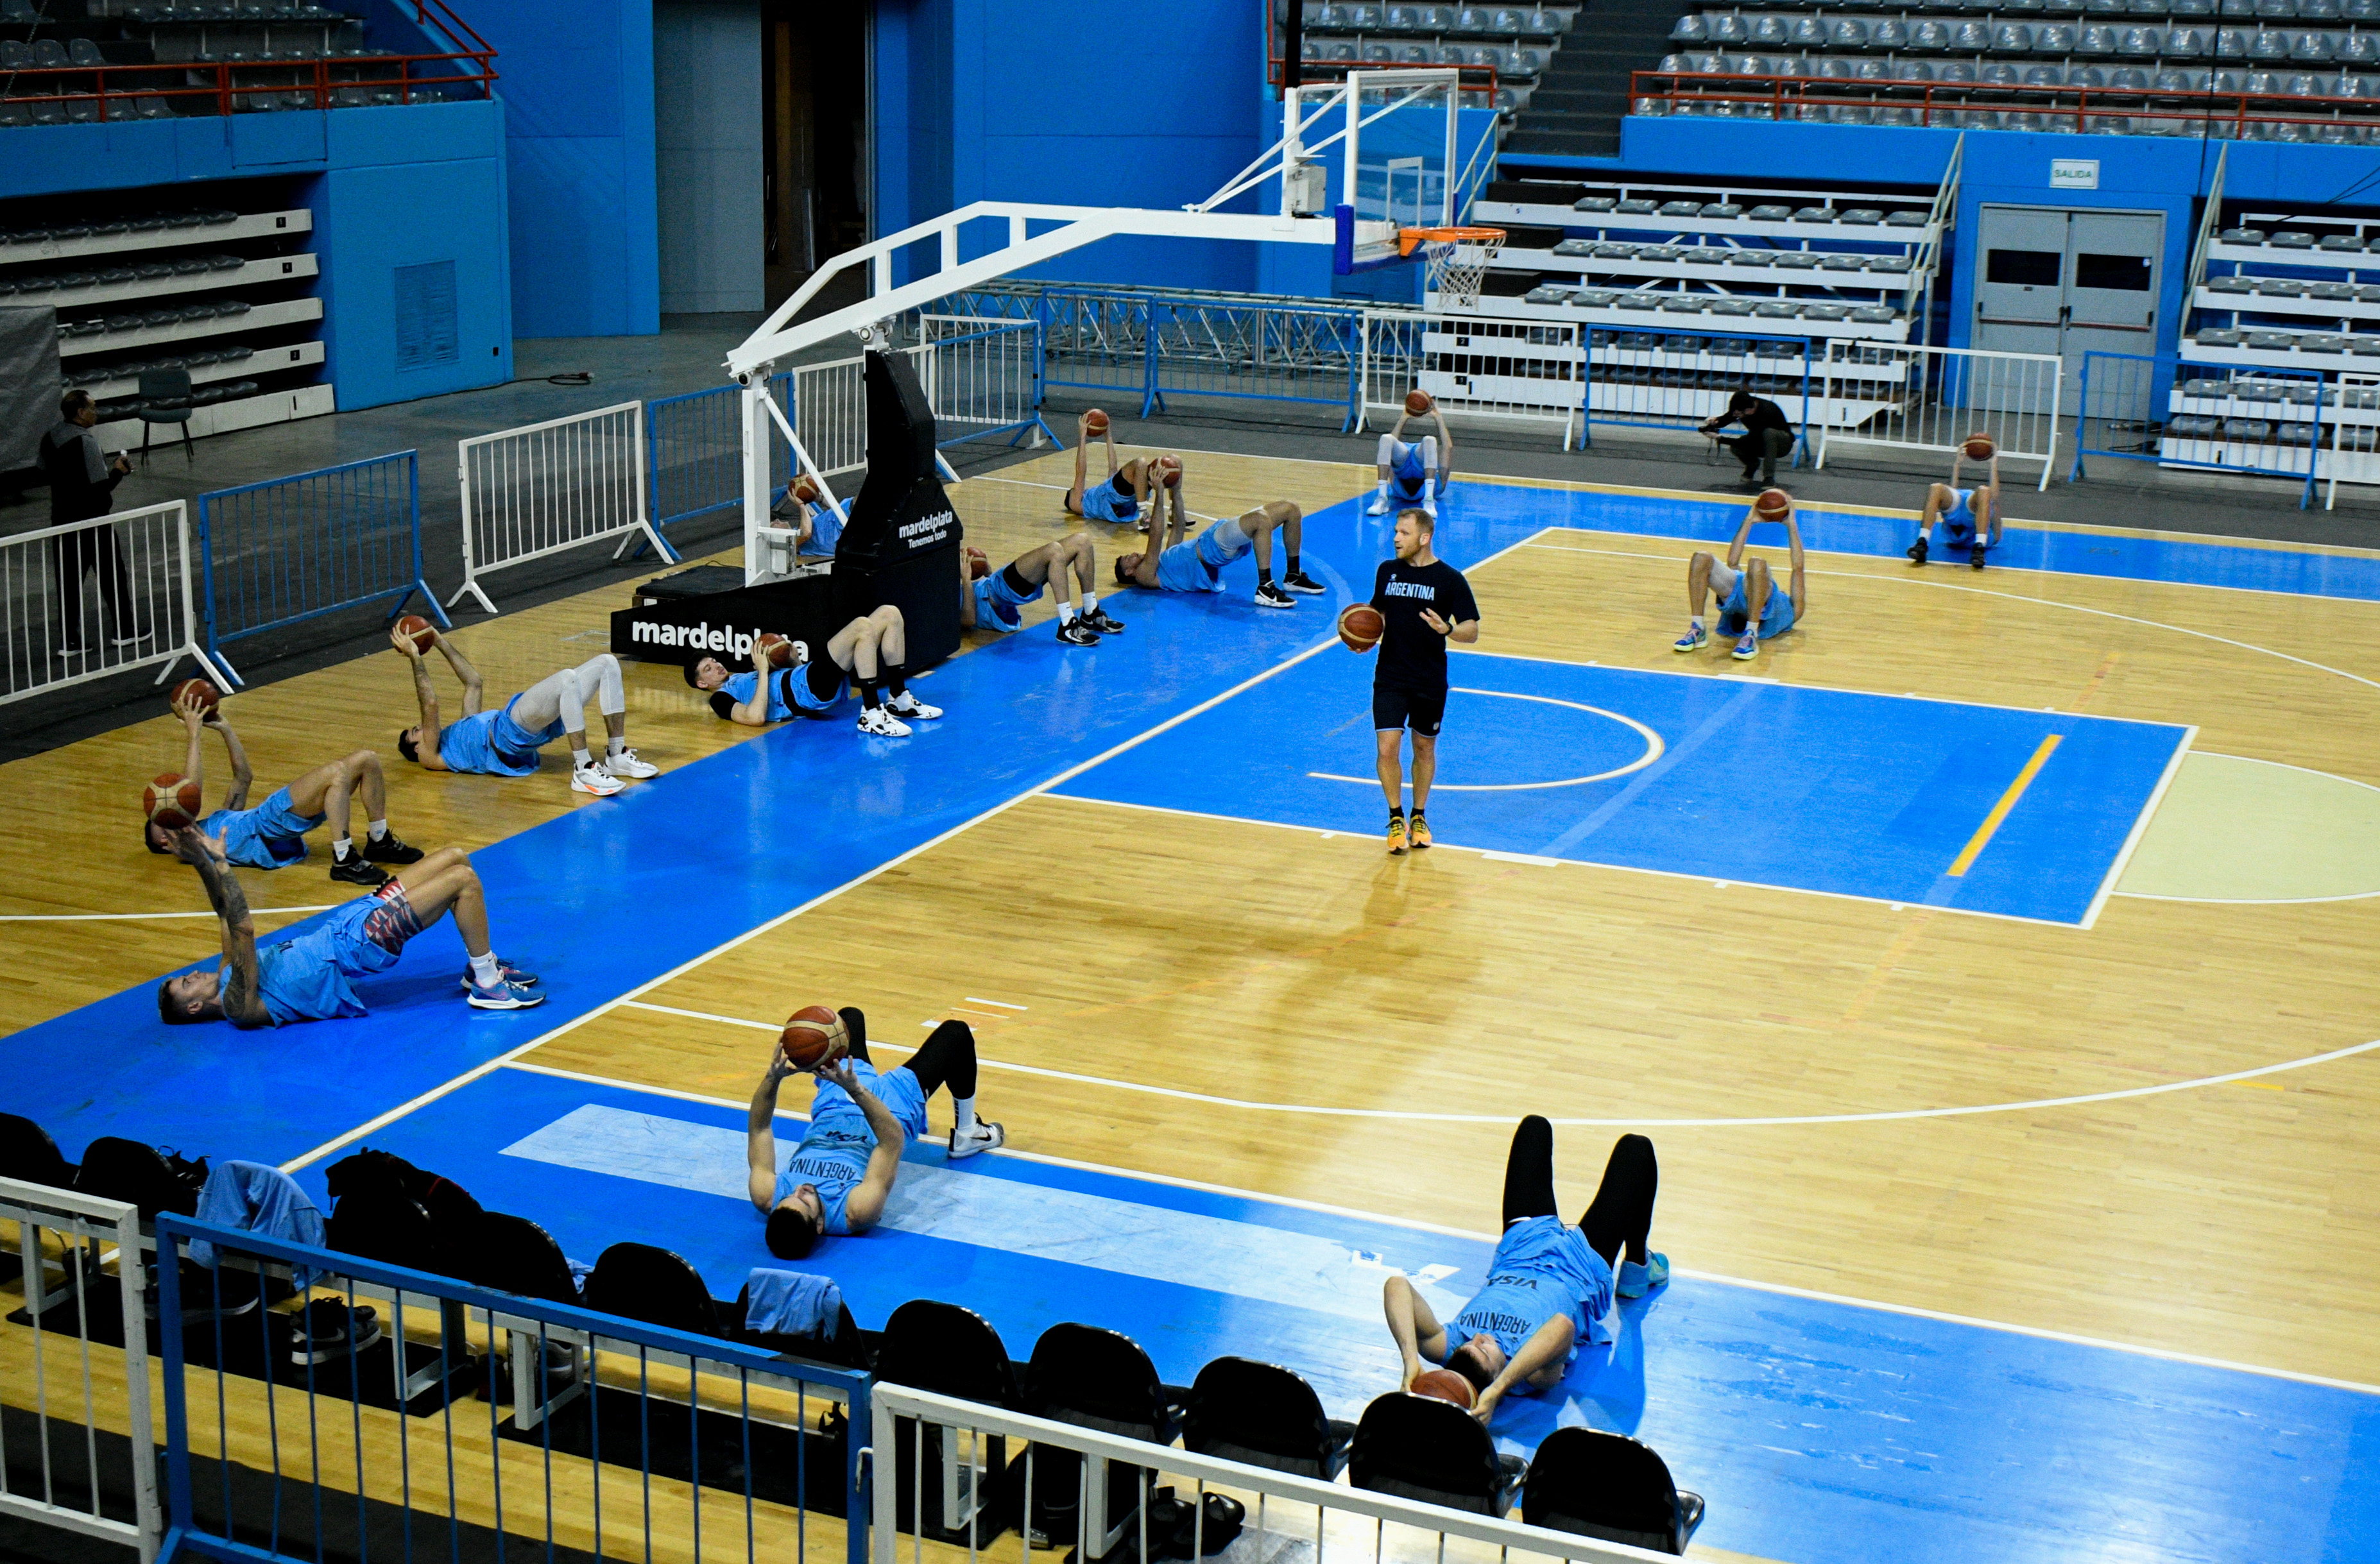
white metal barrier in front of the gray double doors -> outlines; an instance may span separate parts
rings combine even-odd
[[[2049,488],[2059,455],[2066,364],[2054,352],[1983,352],[1902,343],[1830,340],[1811,367],[1811,395],[1830,407],[1875,407],[1864,421],[1818,436],[1818,467],[1833,445],[1954,452],[1983,433],[2002,462],[2040,462]]]

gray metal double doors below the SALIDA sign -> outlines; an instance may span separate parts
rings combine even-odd
[[[2163,212],[1983,207],[1973,345],[2056,352],[2066,383],[2085,352],[2156,352]]]

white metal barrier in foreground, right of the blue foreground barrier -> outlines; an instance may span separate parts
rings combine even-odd
[[[923,1538],[933,1528],[933,1512],[926,1509],[926,1490],[933,1485],[926,1428],[940,1428],[942,1450],[983,1450],[988,1440],[1028,1440],[1023,1457],[1009,1476],[1021,1478],[1021,1504],[1028,1516],[1019,1526],[1016,1559],[1033,1564],[1033,1531],[1047,1526],[1047,1547],[1064,1550],[1073,1531],[1071,1559],[1157,1559],[1164,1550],[1150,1552],[1147,1495],[1164,1481],[1190,1490],[1195,1512],[1190,1557],[1207,1552],[1207,1495],[1221,1493],[1247,1507],[1245,1526],[1254,1531],[1252,1547],[1242,1552],[1247,1538],[1233,1543],[1230,1557],[1247,1559],[1299,1559],[1326,1564],[1328,1550],[1340,1547],[1347,1557],[1371,1552],[1380,1559],[1435,1559],[1435,1564],[1514,1564],[1516,1559],[1583,1559],[1587,1564],[1647,1564],[1671,1554],[1647,1552],[1621,1543],[1602,1543],[1568,1531],[1526,1526],[1488,1514],[1468,1514],[1440,1504],[1426,1504],[1392,1493],[1366,1488],[1342,1488],[1309,1476],[1247,1466],[1209,1454],[1192,1454],[1173,1445],[1150,1445],[1116,1433],[1100,1433],[1076,1424],[1057,1424],[1021,1412],[1002,1412],[976,1402],[952,1400],[931,1390],[878,1383],[869,1397],[873,1433],[869,1447],[876,1452],[878,1476],[900,1466],[919,1474],[909,1488],[909,1514],[900,1512],[902,1483],[876,1483],[873,1516],[873,1564],[900,1564],[902,1538],[909,1533],[909,1557],[923,1564]],[[962,1443],[957,1435],[971,1435]],[[902,1445],[907,1443],[907,1450]],[[907,1454],[907,1462],[900,1457]],[[973,1464],[978,1457],[966,1457]],[[1000,1474],[973,1474],[976,1483],[988,1483]],[[1035,1504],[1035,1476],[1042,1481],[1045,1502]],[[1116,1478],[1123,1481],[1116,1481]],[[981,1493],[973,1483],[969,1485]],[[1057,1488],[1059,1497],[1047,1500]],[[1064,1526],[1066,1512],[1073,1524]],[[1311,1524],[1307,1516],[1311,1514]],[[940,1512],[945,1526],[950,1509]],[[964,1521],[962,1521],[964,1526]],[[1392,1531],[1395,1528],[1395,1531]],[[976,1559],[973,1528],[969,1531],[969,1564]]]

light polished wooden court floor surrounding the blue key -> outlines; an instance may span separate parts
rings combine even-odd
[[[1319,509],[1371,483],[1359,467],[1188,464],[1207,514],[1283,495]],[[971,538],[997,559],[1078,526],[1059,512],[1069,467],[1047,455],[959,486]],[[1095,531],[1102,552],[1138,545]],[[1676,667],[1687,552],[1587,531],[1511,550],[1473,574],[1480,650]],[[2199,750],[2380,786],[2380,605],[1811,567],[1802,631],[1749,669],[1697,667],[2197,724]],[[612,607],[578,598],[462,640],[490,693],[509,690],[600,645]],[[662,767],[743,738],[674,667],[635,667],[628,686],[631,740]],[[395,655],[231,709],[259,788],[383,747],[390,817],[424,845],[495,840],[588,802],[552,769],[514,783],[397,762],[412,714]],[[5,767],[0,914],[202,909],[193,876],[136,833],[138,783],[178,750],[159,717]],[[1745,809],[1759,807],[1747,788]],[[1433,821],[1459,847],[1454,797]],[[1019,881],[1016,864],[1054,862],[1064,876]],[[319,867],[252,878],[259,907],[338,900]],[[1214,819],[1152,831],[1145,812],[1031,797],[643,995],[726,1021],[612,1009],[528,1062],[743,1097],[766,1038],[728,1021],[783,1014],[800,950],[892,1040],[966,995],[1031,1005],[978,1016],[997,1071],[985,1109],[1023,1150],[1485,1228],[1511,1116],[1587,1121],[1561,1131],[1578,1200],[1611,1136],[1652,1126],[1656,1245],[1685,1269],[2370,1383],[2380,1055],[2068,1107],[1940,1109],[2366,1043],[2380,1036],[2375,916],[2380,900],[2118,895],[2075,931],[1461,850],[1388,859],[1364,838]],[[10,1028],[212,943],[200,919],[5,928]],[[926,971],[885,957],[926,931]],[[1925,1116],[1840,1119],[1909,1109]]]

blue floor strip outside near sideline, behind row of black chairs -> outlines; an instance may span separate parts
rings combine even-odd
[[[733,1297],[771,1264],[743,1193],[743,1116],[500,1069],[374,1145],[545,1224],[574,1259],[657,1243]],[[1602,1150],[1564,1143],[1566,1193],[1583,1200]],[[319,1197],[321,1171],[302,1178]],[[1411,1216],[1459,1228],[1490,1212]],[[950,1166],[928,1140],[885,1226],[809,1264],[862,1326],[945,1297],[1023,1357],[1057,1321],[1104,1324],[1173,1383],[1242,1352],[1354,1416],[1395,1383],[1388,1269],[1452,1309],[1488,1255],[1488,1238],[1100,1169]],[[1618,1340],[1580,1352],[1554,1393],[1509,1402],[1495,1431],[1526,1452],[1557,1424],[1645,1438],[1709,1497],[1699,1545],[1768,1559],[2354,1559],[2380,1535],[2375,1395],[1695,1276],[1621,1305]]]

